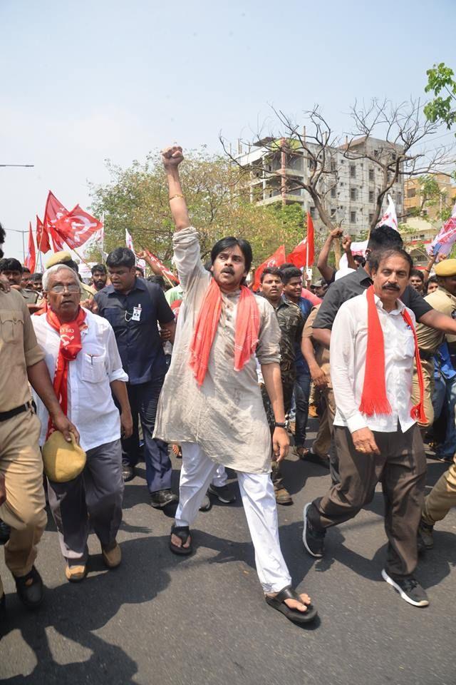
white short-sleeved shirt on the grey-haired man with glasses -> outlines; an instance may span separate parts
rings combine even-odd
[[[82,350],[68,364],[68,418],[81,435],[81,447],[87,450],[120,438],[120,414],[114,404],[110,383],[128,381],[122,368],[114,331],[108,320],[88,310],[87,329],[81,331]],[[33,328],[39,344],[46,352],[44,358],[53,380],[60,335],[46,320],[46,314],[32,316]],[[41,421],[40,445],[46,442],[48,411],[33,392],[38,419]]]

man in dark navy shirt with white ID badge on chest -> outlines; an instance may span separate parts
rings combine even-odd
[[[167,443],[155,440],[158,397],[167,365],[158,330],[174,342],[175,318],[157,283],[138,278],[135,254],[116,248],[106,260],[111,285],[95,295],[98,314],[108,319],[115,333],[123,368],[128,373],[128,397],[133,414],[133,436],[123,440],[123,476],[134,477],[139,460],[138,415],[144,436],[144,458],[150,504],[161,509],[177,502],[171,492],[171,461]]]

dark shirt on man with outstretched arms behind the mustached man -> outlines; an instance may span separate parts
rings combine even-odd
[[[341,305],[356,295],[361,295],[364,290],[367,290],[372,285],[371,277],[368,275],[365,268],[360,266],[353,273],[349,273],[343,278],[339,278],[333,283],[324,296],[318,314],[314,321],[313,328],[333,328],[333,322],[336,318]],[[410,287],[405,288],[402,298],[400,298],[406,307],[411,309],[415,314],[417,321],[432,310],[432,307],[424,300],[420,293]]]

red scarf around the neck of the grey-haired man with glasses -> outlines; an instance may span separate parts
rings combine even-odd
[[[86,312],[80,307],[74,321],[61,323],[58,316],[50,308],[46,312],[46,321],[60,335],[60,347],[56,363],[56,375],[54,376],[54,391],[63,413],[68,412],[68,364],[76,359],[81,352],[81,330],[87,328]],[[52,424],[49,419],[48,435]]]

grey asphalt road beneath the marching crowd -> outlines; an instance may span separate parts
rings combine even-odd
[[[428,463],[432,484],[445,467]],[[37,564],[48,587],[46,605],[30,615],[1,559],[9,604],[1,682],[454,685],[456,513],[440,525],[435,550],[420,562],[432,604],[415,609],[380,578],[381,492],[328,534],[326,557],[316,562],[303,552],[301,515],[329,477],[294,457],[284,472],[294,505],[279,511],[282,547],[294,583],[318,604],[316,628],[294,626],[267,607],[239,501],[200,514],[197,552],[180,559],[167,549],[172,519],[147,504],[140,472],[125,490],[123,564],[116,571],[105,570],[91,536],[90,574],[83,584],[66,582],[50,522]]]

